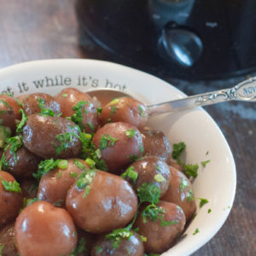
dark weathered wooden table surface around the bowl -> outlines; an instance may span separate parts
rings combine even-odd
[[[0,0],[0,68],[49,58],[113,61],[90,40],[79,37],[74,3]],[[245,78],[201,83],[162,79],[192,95],[228,88]],[[224,132],[236,160],[236,200],[222,229],[193,255],[256,255],[256,103],[221,103],[207,111]]]

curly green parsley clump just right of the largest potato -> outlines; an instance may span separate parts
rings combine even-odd
[[[137,196],[140,199],[140,204],[144,201],[151,204],[158,204],[160,200],[160,188],[153,183],[143,183],[137,188]]]

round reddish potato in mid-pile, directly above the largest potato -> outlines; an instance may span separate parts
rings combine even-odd
[[[125,131],[134,130],[135,135],[131,138],[125,135]],[[131,164],[132,156],[140,158],[143,149],[143,139],[134,125],[117,122],[102,126],[96,131],[92,143],[100,148],[102,136],[117,138],[113,146],[108,143],[107,148],[102,149],[102,159],[105,160],[109,172],[120,173],[124,167]]]

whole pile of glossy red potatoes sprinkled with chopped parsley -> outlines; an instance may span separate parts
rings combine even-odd
[[[191,183],[165,134],[146,127],[142,102],[96,108],[74,88],[1,95],[0,121],[2,255],[163,253],[195,213]]]

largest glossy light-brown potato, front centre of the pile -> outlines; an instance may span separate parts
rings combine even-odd
[[[123,178],[96,171],[90,192],[76,184],[67,192],[66,207],[75,224],[91,233],[108,232],[124,227],[137,212],[137,195]]]

